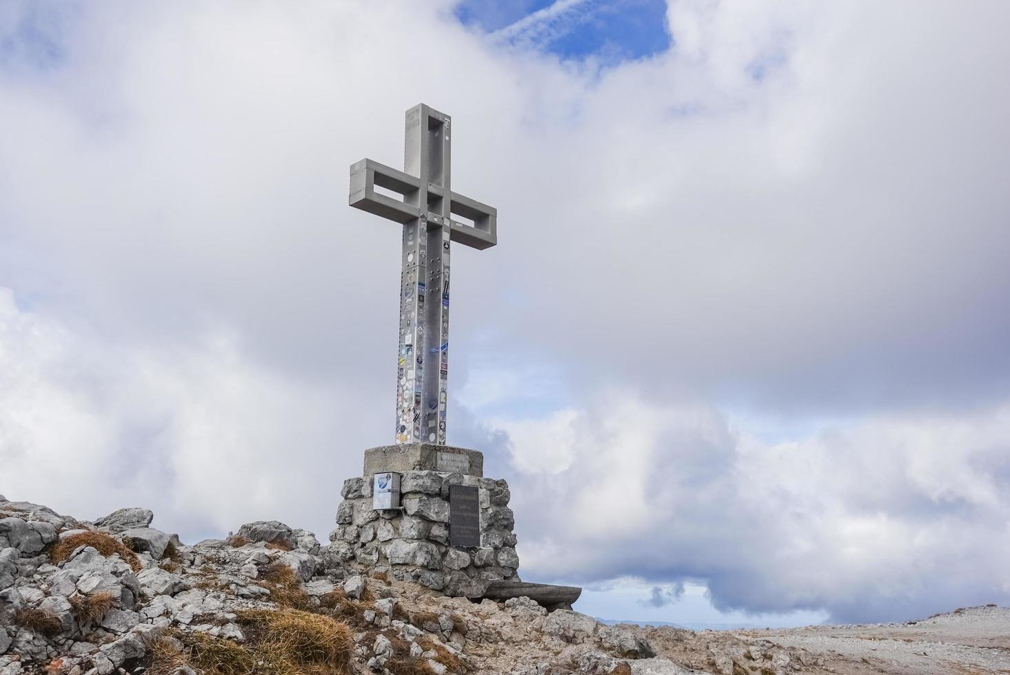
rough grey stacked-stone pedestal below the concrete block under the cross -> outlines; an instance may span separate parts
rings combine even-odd
[[[481,546],[449,546],[449,485],[478,488]],[[456,594],[469,579],[518,581],[508,483],[460,473],[407,471],[400,510],[372,508],[372,476],[343,482],[329,555],[362,571],[386,571]]]

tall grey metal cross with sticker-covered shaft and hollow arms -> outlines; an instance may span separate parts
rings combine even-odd
[[[449,148],[448,115],[418,104],[407,111],[402,172],[350,165],[350,206],[403,223],[397,443],[445,444],[449,241],[498,242],[498,212],[451,191]]]

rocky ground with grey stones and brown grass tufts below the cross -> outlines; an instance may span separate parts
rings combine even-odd
[[[878,626],[608,627],[528,598],[448,598],[343,567],[281,523],[183,545],[0,496],[0,675],[1010,673],[1010,609]]]

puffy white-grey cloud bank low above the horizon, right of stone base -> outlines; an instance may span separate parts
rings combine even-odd
[[[567,441],[551,433],[572,420]],[[516,443],[512,490],[522,560],[543,577],[702,581],[720,608],[844,621],[1010,601],[1010,404],[769,445],[621,392],[541,429],[569,466],[531,475],[541,450]]]

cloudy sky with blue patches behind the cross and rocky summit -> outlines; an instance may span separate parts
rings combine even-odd
[[[448,442],[607,618],[1010,603],[1003,2],[0,3],[0,493],[325,541],[452,116]]]

